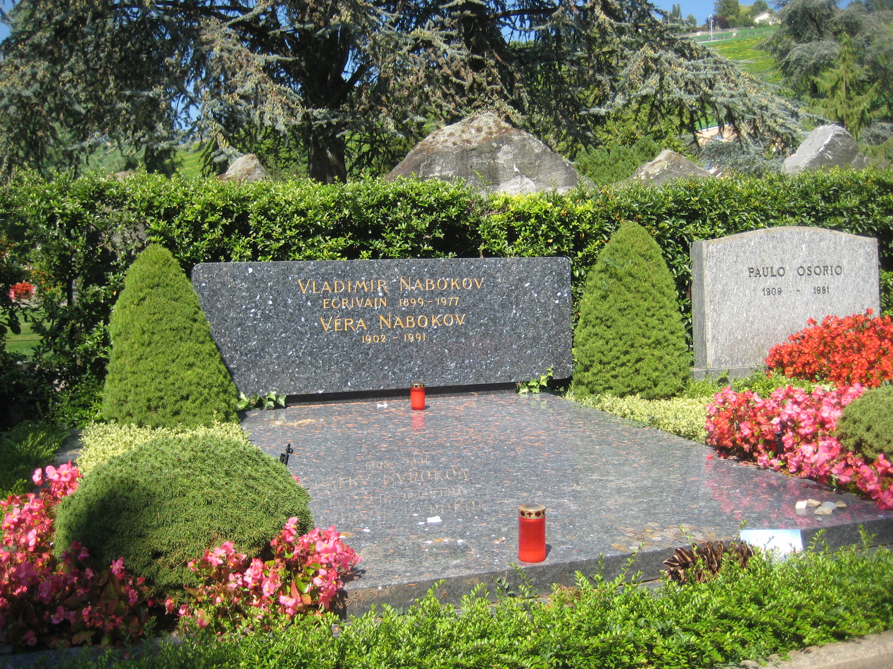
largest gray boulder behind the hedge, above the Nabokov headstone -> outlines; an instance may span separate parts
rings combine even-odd
[[[413,176],[463,179],[485,193],[567,193],[580,185],[580,175],[570,162],[493,113],[435,130],[385,180]]]

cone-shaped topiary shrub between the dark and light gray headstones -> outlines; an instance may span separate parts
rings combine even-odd
[[[573,344],[573,392],[581,397],[679,392],[689,373],[685,330],[670,270],[644,227],[622,224],[598,255]]]

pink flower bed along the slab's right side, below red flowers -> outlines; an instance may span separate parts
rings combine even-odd
[[[864,392],[853,384],[807,393],[787,386],[768,400],[753,391],[723,388],[707,405],[707,443],[820,483],[849,485],[880,508],[893,508],[893,465],[881,454],[872,463],[843,450],[832,433],[843,408]],[[780,433],[781,444],[776,442]]]

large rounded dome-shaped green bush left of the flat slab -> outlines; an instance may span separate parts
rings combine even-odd
[[[56,516],[55,549],[87,546],[97,566],[121,556],[157,596],[194,583],[187,562],[232,541],[260,554],[291,516],[313,527],[310,496],[261,450],[212,434],[164,436],[96,466]]]

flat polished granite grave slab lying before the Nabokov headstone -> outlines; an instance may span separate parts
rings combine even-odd
[[[831,547],[853,543],[859,524],[893,542],[893,512],[872,500],[545,393],[429,398],[424,411],[408,400],[307,405],[252,411],[242,425],[272,456],[292,443],[315,523],[334,524],[363,556],[346,588],[351,613],[408,605],[438,579],[457,601],[505,575],[518,562],[516,509],[529,501],[547,507],[548,557],[528,570],[544,591],[597,571],[600,555],[618,574],[640,544],[632,569],[654,578],[683,532],[728,539],[743,521],[798,528],[804,545],[822,529]],[[847,508],[798,515],[807,498]]]

